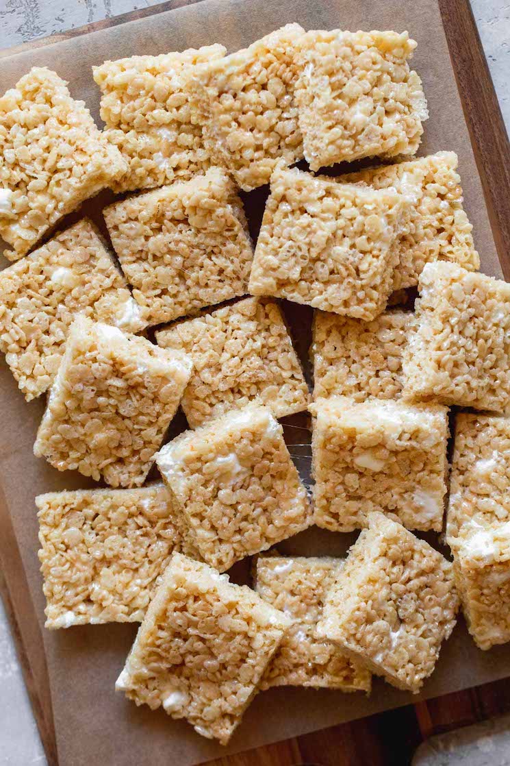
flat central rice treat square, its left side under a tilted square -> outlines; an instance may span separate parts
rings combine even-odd
[[[191,428],[252,401],[276,417],[306,410],[308,387],[283,313],[272,301],[240,300],[160,330],[156,339],[193,359],[181,401]]]

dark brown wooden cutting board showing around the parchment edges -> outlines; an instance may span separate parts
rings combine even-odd
[[[101,28],[116,26],[156,15],[200,0],[171,0],[116,18],[105,19],[65,34],[34,41],[13,52],[43,47]],[[247,0],[249,2],[249,0]],[[492,231],[505,278],[510,280],[510,145],[489,68],[485,61],[469,0],[440,0],[443,25],[450,47],[466,123],[472,139],[479,174],[485,192]],[[28,591],[25,571],[11,520],[0,502],[0,591],[5,600],[18,656],[38,722],[49,764],[58,764],[51,694],[41,630]],[[16,587],[14,588],[14,584]],[[420,702],[371,718],[267,745],[263,748],[221,758],[217,766],[361,766],[361,764],[404,764],[419,742],[434,732],[499,715],[510,709],[510,685],[505,681],[478,689],[456,692],[439,699]],[[213,763],[213,762],[211,762]]]

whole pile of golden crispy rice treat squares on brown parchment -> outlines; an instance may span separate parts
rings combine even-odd
[[[35,455],[109,485],[36,498],[46,625],[141,622],[116,688],[222,743],[271,686],[418,692],[459,597],[479,647],[510,640],[510,286],[456,155],[414,159],[415,45],[291,24],[106,61],[102,132],[48,70],[0,99],[0,348],[47,392]],[[141,193],[55,233],[103,188]],[[312,396],[280,299],[315,309]],[[305,411],[311,499],[277,419]],[[453,564],[411,531],[445,506]],[[361,533],[273,548],[312,524]],[[224,574],[247,557],[253,588]]]

